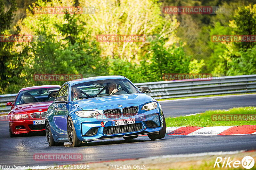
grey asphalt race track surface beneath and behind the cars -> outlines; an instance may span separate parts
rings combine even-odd
[[[238,106],[256,106],[256,95],[230,96],[221,98],[180,100],[162,102],[166,117],[180,116],[209,109],[228,109]],[[86,146],[72,148],[66,146],[50,147],[44,135],[29,135],[10,138],[8,121],[0,121],[0,165],[64,165],[98,162],[115,159],[145,158],[170,154],[200,152],[220,152],[255,150],[256,135],[223,136],[166,136],[161,140],[150,140],[140,136],[133,140],[109,139],[93,141]],[[68,144],[68,143],[65,143]],[[35,153],[82,153],[81,161],[35,161]],[[107,168],[107,167],[106,167]]]

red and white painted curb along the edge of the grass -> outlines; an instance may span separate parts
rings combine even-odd
[[[250,135],[256,134],[256,125],[212,127],[166,127],[166,135]]]

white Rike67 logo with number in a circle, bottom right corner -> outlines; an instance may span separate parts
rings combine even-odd
[[[224,159],[222,159],[221,157],[217,157],[214,163],[214,168],[215,167],[234,167],[234,168],[238,168],[239,166],[243,166],[245,169],[251,169],[254,166],[254,159],[251,156],[245,156],[242,161],[240,160],[230,160],[230,157],[228,157],[228,159],[225,157]],[[221,166],[222,165],[222,166]]]

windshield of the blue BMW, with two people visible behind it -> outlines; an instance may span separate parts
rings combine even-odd
[[[138,93],[126,79],[108,79],[75,84],[71,87],[71,101],[85,98]]]

